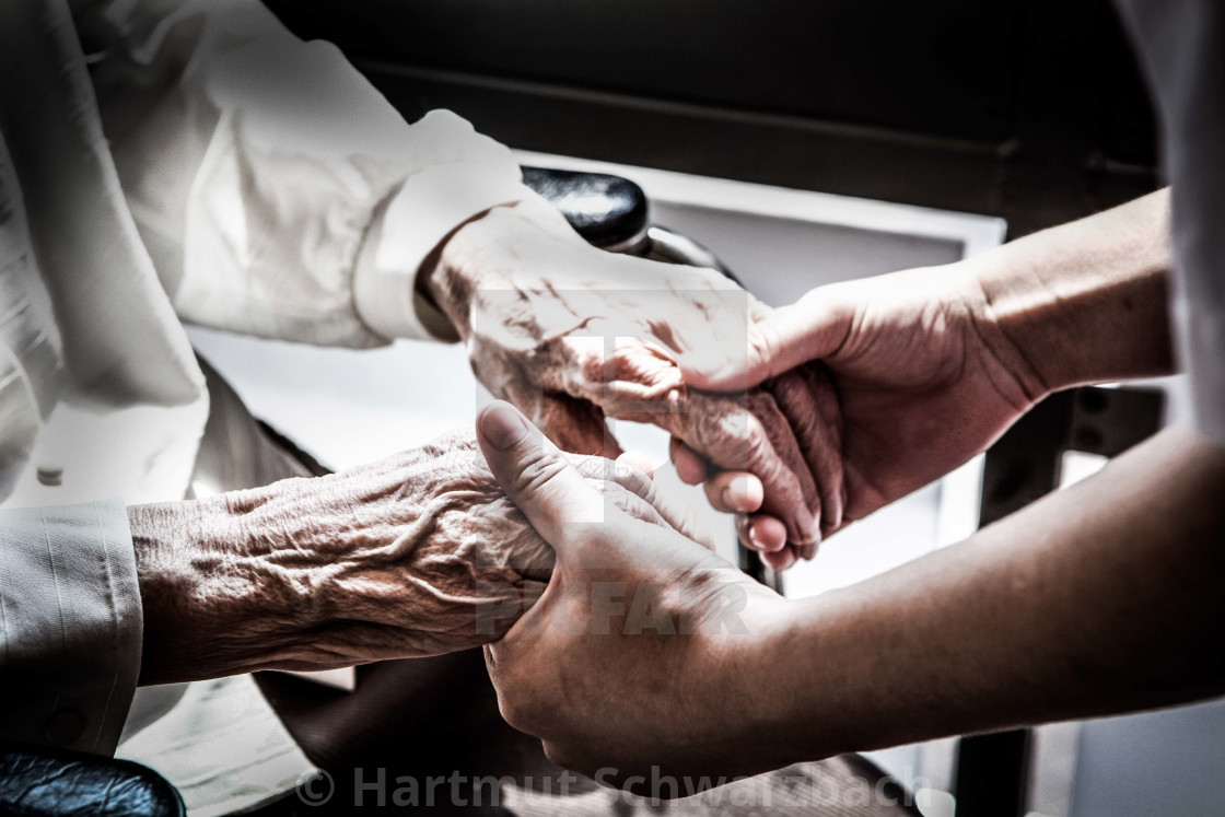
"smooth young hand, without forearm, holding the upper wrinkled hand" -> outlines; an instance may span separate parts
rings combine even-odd
[[[967,462],[1047,391],[957,265],[815,289],[748,337],[740,366],[706,355],[686,376],[771,392],[820,486],[826,535]],[[692,452],[677,457],[703,475]],[[741,519],[746,544],[760,521]]]

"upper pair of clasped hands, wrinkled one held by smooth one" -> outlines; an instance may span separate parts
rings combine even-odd
[[[606,416],[668,430],[681,479],[778,568],[1044,393],[968,263],[771,310],[714,271],[595,250],[524,202],[462,228],[425,288],[481,382],[561,448],[615,457]]]

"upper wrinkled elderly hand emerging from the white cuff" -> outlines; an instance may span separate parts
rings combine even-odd
[[[821,496],[766,391],[687,390],[676,360],[722,344],[744,355],[769,310],[710,269],[603,252],[532,202],[490,211],[445,245],[430,298],[473,371],[567,451],[615,457],[605,418],[653,423],[724,469],[752,473],[788,539],[820,534]]]

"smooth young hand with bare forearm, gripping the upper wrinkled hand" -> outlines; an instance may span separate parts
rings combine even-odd
[[[828,534],[960,465],[1052,391],[1170,374],[1170,263],[1158,191],[958,263],[815,289],[752,320],[747,355],[712,347],[681,367],[693,387],[774,394]],[[686,447],[676,461],[687,481],[709,476]],[[740,530],[775,567],[794,561],[777,521]]]

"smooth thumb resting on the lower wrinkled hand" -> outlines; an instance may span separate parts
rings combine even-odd
[[[609,511],[570,461],[510,403],[477,416],[477,440],[494,479],[559,556]]]

